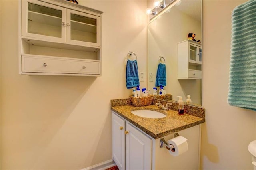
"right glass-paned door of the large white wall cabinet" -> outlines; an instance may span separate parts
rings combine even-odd
[[[100,46],[100,17],[67,9],[67,42]]]

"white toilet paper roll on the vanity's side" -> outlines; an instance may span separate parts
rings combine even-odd
[[[188,139],[184,138],[183,136],[177,136],[176,138],[172,138],[167,141],[170,145],[173,145],[174,148],[170,150],[170,154],[172,156],[179,156],[188,150]]]

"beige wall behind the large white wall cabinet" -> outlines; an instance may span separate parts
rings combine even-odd
[[[75,170],[112,159],[110,99],[132,93],[127,53],[147,71],[146,1],[79,3],[104,12],[102,77],[19,75],[18,1],[1,1],[2,170]]]

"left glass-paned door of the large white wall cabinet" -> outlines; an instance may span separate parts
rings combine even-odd
[[[22,36],[65,41],[66,9],[40,1],[22,1]]]

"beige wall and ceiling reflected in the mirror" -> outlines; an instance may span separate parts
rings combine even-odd
[[[201,0],[182,0],[179,6],[173,6],[148,24],[148,89],[153,91],[159,61],[166,64],[166,90],[186,101],[191,96],[192,103],[201,106],[202,79],[178,79],[178,43],[188,39],[188,33],[194,33],[202,45],[202,2]],[[164,60],[159,60],[159,57]],[[203,56],[203,55],[202,55]],[[184,65],[188,62],[184,61]],[[185,67],[184,67],[185,68]],[[158,87],[159,89],[159,87]]]

